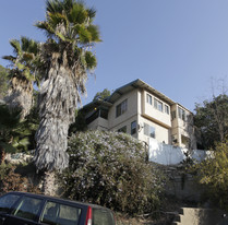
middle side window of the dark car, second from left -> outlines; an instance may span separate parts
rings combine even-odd
[[[35,221],[38,216],[41,202],[43,200],[40,199],[24,197],[14,210],[13,215]]]

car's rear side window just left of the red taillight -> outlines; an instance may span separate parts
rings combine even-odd
[[[81,209],[64,203],[48,201],[41,216],[41,223],[50,225],[77,225]]]

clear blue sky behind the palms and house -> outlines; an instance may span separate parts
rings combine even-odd
[[[88,76],[89,103],[97,92],[141,79],[190,110],[212,96],[212,83],[228,87],[227,0],[87,0],[95,7],[103,43],[95,47],[96,76]],[[2,0],[0,56],[9,40],[45,40],[34,25],[45,20],[45,0]],[[0,64],[7,66],[0,59]],[[215,80],[212,82],[212,80]]]

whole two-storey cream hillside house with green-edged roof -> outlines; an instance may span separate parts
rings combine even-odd
[[[125,132],[145,143],[155,139],[169,145],[196,147],[193,114],[141,80],[82,110],[89,129]]]

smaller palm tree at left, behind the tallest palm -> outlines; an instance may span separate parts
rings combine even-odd
[[[27,37],[21,40],[10,40],[14,56],[2,57],[11,62],[12,69],[9,72],[10,87],[4,100],[10,108],[22,109],[22,118],[28,115],[33,104],[33,84],[38,82],[35,76],[35,62],[37,61],[38,43]]]

